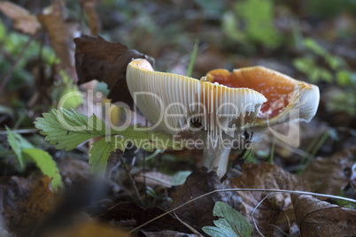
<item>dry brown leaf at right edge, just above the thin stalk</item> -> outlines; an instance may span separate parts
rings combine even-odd
[[[314,193],[338,195],[350,182],[356,146],[337,152],[332,157],[316,157],[306,167],[302,177]]]

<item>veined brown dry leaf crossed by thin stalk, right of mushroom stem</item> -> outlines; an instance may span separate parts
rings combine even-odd
[[[243,164],[243,174],[230,182],[231,187],[236,188],[262,188],[262,189],[286,189],[306,191],[306,184],[297,176],[282,170],[281,167],[275,164]],[[238,192],[238,195],[243,199],[244,210],[241,214],[248,218],[252,223],[252,210],[258,203],[271,192]],[[254,213],[254,218],[257,225],[266,230],[268,233],[273,233],[275,227],[270,225],[278,225],[288,227],[288,220],[283,212],[288,215],[290,223],[295,220],[292,211],[292,204],[289,194],[277,194],[269,196],[265,202],[259,205],[259,208]],[[284,223],[281,223],[281,219]],[[284,231],[289,232],[286,228]]]

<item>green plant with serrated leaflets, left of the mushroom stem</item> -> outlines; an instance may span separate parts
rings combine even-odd
[[[77,111],[66,109],[52,110],[37,118],[35,127],[41,130],[46,141],[56,145],[57,149],[71,150],[81,142],[101,137],[90,149],[90,172],[102,176],[106,171],[107,160],[116,149],[125,151],[129,142],[137,149],[153,151],[154,149],[180,149],[179,143],[168,134],[142,131],[144,127],[121,127],[120,131],[106,128],[104,121],[96,115],[88,118]],[[137,131],[141,128],[141,131]]]

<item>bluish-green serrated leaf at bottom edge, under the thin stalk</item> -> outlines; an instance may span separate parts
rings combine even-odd
[[[205,226],[203,231],[212,236],[252,236],[253,228],[243,215],[227,203],[217,202],[213,208],[214,226]],[[237,232],[238,230],[238,232]]]

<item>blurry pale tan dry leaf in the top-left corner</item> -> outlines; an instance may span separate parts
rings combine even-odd
[[[1,1],[0,11],[3,11],[8,18],[13,20],[15,29],[25,34],[35,34],[41,28],[41,24],[35,18],[35,15],[17,4]]]

